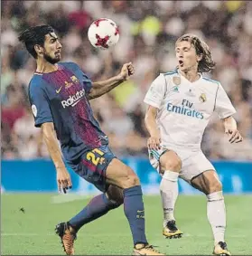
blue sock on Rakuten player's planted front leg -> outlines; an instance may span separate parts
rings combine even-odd
[[[141,185],[124,189],[124,208],[136,243],[147,243],[145,237],[145,207]]]

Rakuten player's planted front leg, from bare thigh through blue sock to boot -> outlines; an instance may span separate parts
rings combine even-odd
[[[142,188],[134,171],[114,158],[107,166],[107,183],[123,189],[124,210],[133,236],[133,255],[163,255],[149,245],[145,236],[145,207]]]

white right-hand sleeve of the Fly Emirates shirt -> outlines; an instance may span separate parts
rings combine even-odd
[[[219,119],[226,119],[237,112],[220,83],[216,93],[215,111]]]

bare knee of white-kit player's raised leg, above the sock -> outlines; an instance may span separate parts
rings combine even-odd
[[[162,173],[166,170],[170,170],[179,173],[182,169],[181,158],[173,151],[168,151],[160,157],[160,164]]]

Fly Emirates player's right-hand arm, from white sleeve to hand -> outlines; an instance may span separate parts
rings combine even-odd
[[[236,113],[236,109],[220,83],[216,94],[215,111],[223,122],[225,134],[229,136],[229,142],[241,142],[243,137],[238,131],[237,121],[232,117]]]

